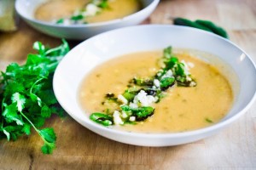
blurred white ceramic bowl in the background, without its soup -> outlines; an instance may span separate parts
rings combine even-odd
[[[36,20],[34,18],[36,8],[47,1],[49,0],[16,0],[15,8],[20,17],[38,31],[53,37],[84,40],[104,31],[124,26],[134,26],[141,23],[154,11],[160,0],[142,0],[143,9],[123,19],[73,26],[63,26]]]

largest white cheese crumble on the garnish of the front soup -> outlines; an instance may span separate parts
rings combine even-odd
[[[144,90],[141,90],[133,99],[133,103],[140,103],[143,106],[150,106],[155,101],[156,99],[154,99],[154,96],[147,95]]]

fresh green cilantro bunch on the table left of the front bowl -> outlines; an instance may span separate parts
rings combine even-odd
[[[26,64],[10,64],[0,75],[0,139],[16,140],[33,128],[43,139],[41,150],[50,154],[56,136],[51,127],[40,129],[53,113],[63,116],[52,88],[53,73],[69,47],[63,40],[57,48],[35,42],[38,54],[28,54]]]

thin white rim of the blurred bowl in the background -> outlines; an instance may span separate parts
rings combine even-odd
[[[84,28],[84,27],[90,28],[90,27],[95,27],[95,26],[109,26],[109,25],[118,24],[118,23],[121,23],[121,22],[125,22],[126,20],[132,20],[133,18],[136,18],[137,15],[145,13],[148,10],[148,8],[155,8],[158,5],[158,3],[160,2],[160,0],[152,0],[151,3],[149,3],[147,6],[144,6],[142,9],[140,9],[136,13],[129,14],[129,15],[121,18],[121,19],[107,20],[107,21],[90,23],[90,24],[78,24],[78,25],[65,26],[65,25],[57,25],[55,23],[47,22],[47,21],[44,21],[44,20],[37,20],[37,19],[34,19],[34,18],[26,17],[25,15],[23,15],[20,12],[20,8],[19,8],[20,1],[21,0],[16,0],[15,1],[15,10],[22,18],[24,18],[26,20],[29,20],[31,22],[34,22],[38,25],[54,26],[54,27],[58,27],[58,28]]]

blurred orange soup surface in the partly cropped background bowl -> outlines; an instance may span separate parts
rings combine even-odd
[[[75,10],[84,8],[87,3],[90,3],[90,0],[49,0],[37,8],[35,18],[44,21],[69,18]],[[86,17],[86,22],[121,19],[141,9],[141,3],[137,0],[110,0],[108,4],[109,8],[102,10],[101,13]]]

